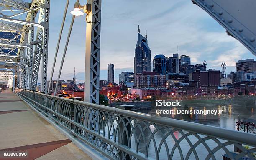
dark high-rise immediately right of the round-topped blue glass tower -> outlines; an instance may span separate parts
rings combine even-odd
[[[175,53],[172,55],[172,57],[167,57],[167,73],[179,73],[179,54]]]

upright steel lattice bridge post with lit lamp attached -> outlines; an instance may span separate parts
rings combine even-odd
[[[87,22],[84,101],[99,104],[101,0],[87,0],[84,6],[77,1],[71,14],[81,16],[84,13]]]

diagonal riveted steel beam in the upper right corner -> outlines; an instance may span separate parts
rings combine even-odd
[[[256,55],[256,1],[192,0]]]

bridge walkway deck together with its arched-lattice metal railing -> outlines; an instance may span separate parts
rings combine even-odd
[[[128,109],[18,88],[3,91],[1,154],[27,152],[28,159],[255,159],[256,135]]]

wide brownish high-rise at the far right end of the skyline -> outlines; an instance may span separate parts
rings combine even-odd
[[[238,60],[236,72],[256,72],[256,61],[254,59]]]

